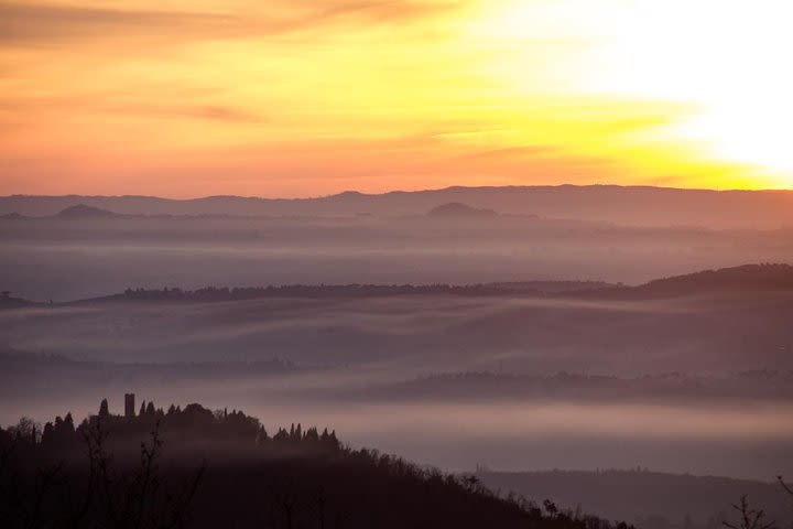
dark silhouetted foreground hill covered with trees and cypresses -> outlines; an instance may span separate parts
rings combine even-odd
[[[501,497],[298,424],[270,436],[242,412],[134,406],[43,432],[0,430],[3,528],[548,528],[628,526]]]

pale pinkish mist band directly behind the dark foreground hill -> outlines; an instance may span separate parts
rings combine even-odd
[[[109,396],[112,410],[121,412],[124,391],[137,391],[139,398],[162,406],[184,406],[199,395],[208,407],[242,409],[269,429],[291,422],[328,425],[352,446],[374,446],[460,472],[477,464],[498,471],[642,466],[765,482],[793,473],[787,457],[793,446],[789,420],[793,400],[631,403],[427,398],[402,402],[369,401],[365,393],[358,400],[292,399],[276,391],[262,395],[256,387],[115,381],[101,389],[75,388],[57,398],[42,392],[24,402],[26,414],[44,421],[64,413],[65,406],[75,417],[96,413],[97,397],[102,396]],[[19,410],[20,401],[3,399],[0,423],[14,423]]]

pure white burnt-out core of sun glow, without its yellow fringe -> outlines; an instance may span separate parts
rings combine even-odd
[[[695,101],[699,112],[672,133],[704,142],[715,158],[790,175],[793,68],[785,55],[793,50],[793,6],[784,0],[643,3],[606,52],[622,66],[613,86]],[[675,32],[664,41],[661,28]]]

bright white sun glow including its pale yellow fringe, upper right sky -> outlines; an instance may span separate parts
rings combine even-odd
[[[572,90],[686,105],[651,136],[793,185],[790,2],[511,1],[492,13],[493,36],[586,41],[567,71]]]

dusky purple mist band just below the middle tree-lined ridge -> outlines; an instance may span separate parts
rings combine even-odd
[[[791,294],[109,300],[0,312],[8,347],[74,359],[643,375],[793,369]]]

